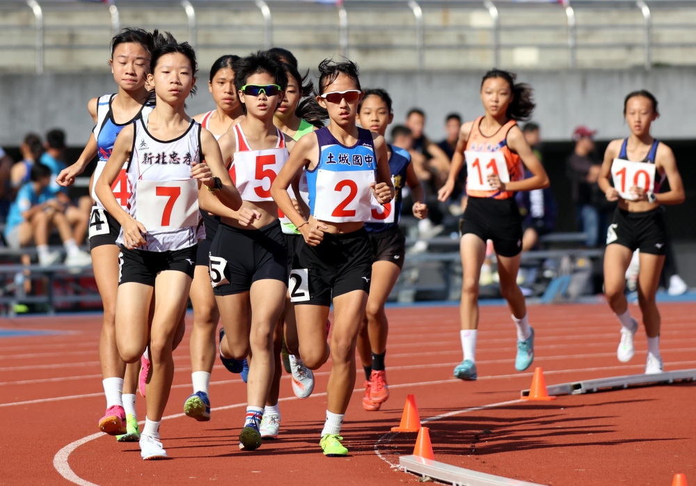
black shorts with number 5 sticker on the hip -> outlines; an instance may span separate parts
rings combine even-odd
[[[210,245],[210,280],[215,295],[248,292],[258,280],[287,285],[287,249],[280,221],[258,230],[220,223]]]

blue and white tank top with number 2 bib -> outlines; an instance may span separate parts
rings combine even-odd
[[[358,141],[352,147],[335,139],[329,127],[315,132],[319,141],[319,164],[307,170],[309,207],[322,221],[347,223],[370,219],[374,171],[372,132],[358,128]]]

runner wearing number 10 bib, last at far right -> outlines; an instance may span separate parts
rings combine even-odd
[[[638,321],[632,318],[628,311],[624,295],[624,276],[633,251],[638,249],[638,305],[643,315],[648,340],[646,374],[663,371],[660,356],[660,312],[655,304],[667,242],[664,210],[661,205],[681,204],[685,197],[672,150],[650,135],[650,126],[658,116],[657,100],[649,91],[634,91],[626,96],[624,118],[631,130],[631,136],[609,143],[597,180],[599,187],[606,194],[607,201],[619,201],[614,219],[607,231],[607,248],[604,253],[604,292],[609,306],[621,323],[621,341],[617,349],[617,358],[622,363],[627,363],[635,354],[633,336],[638,330]],[[623,174],[622,171],[613,168],[615,164],[619,166],[624,161],[632,160],[638,163],[628,164]],[[654,166],[652,187],[646,185],[646,182],[649,182],[645,177],[648,171],[641,170],[642,164]],[[633,173],[635,175],[631,177]],[[613,175],[613,187],[609,182],[610,175]],[[670,190],[658,194],[665,176],[670,183]],[[638,187],[641,182],[643,185]]]

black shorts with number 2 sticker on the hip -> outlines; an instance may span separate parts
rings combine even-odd
[[[331,306],[339,295],[363,290],[370,293],[372,250],[365,228],[353,233],[324,233],[317,246],[300,242],[290,272],[290,301]]]

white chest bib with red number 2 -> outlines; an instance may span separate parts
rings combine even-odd
[[[314,217],[347,223],[368,221],[374,171],[326,171],[317,169],[317,198]]]

